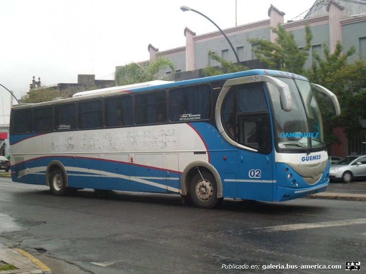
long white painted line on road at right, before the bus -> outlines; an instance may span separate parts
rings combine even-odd
[[[358,224],[366,224],[366,218],[343,220],[343,221],[320,222],[320,223],[277,225],[277,226],[259,227],[259,228],[255,228],[255,230],[261,230],[261,231],[266,231],[266,232],[276,232],[276,231],[291,231],[291,230],[300,230],[300,229],[309,229],[309,228],[358,225]]]

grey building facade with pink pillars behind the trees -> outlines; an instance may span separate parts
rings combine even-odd
[[[301,18],[285,22],[284,15],[285,12],[271,5],[267,12],[267,19],[223,30],[236,49],[242,64],[249,68],[263,68],[263,64],[253,54],[252,48],[255,45],[250,44],[247,39],[267,39],[274,42],[276,37],[271,28],[278,24],[281,24],[286,31],[293,33],[300,48],[305,46],[305,25],[310,26],[313,39],[306,61],[307,67],[311,67],[314,53],[322,57],[324,45],[333,53],[338,41],[343,44],[345,51],[351,46],[356,48],[356,53],[349,60],[350,62],[357,59],[366,60],[366,0],[316,0]],[[203,68],[220,65],[208,58],[209,51],[216,52],[226,60],[237,62],[229,43],[220,31],[197,35],[186,27],[183,33],[186,43],[182,47],[160,52],[153,45],[148,46],[150,60],[165,57],[175,64],[175,74],[167,69],[161,77],[170,80],[202,77],[200,71]],[[149,60],[140,63],[147,62]],[[366,122],[362,121],[362,124],[366,129]],[[343,144],[329,148],[329,154],[341,157],[366,154],[365,137],[346,138],[343,131],[339,129],[336,129],[335,133]]]

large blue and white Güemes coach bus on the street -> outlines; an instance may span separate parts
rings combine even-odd
[[[329,163],[315,91],[274,70],[168,82],[12,107],[11,176],[71,190],[280,202],[323,192]]]

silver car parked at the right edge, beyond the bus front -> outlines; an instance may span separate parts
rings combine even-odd
[[[349,183],[360,177],[366,177],[366,155],[348,156],[330,165],[330,180],[342,180]]]

